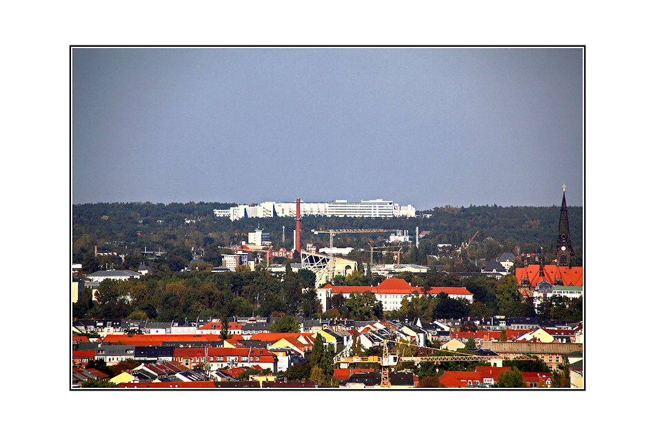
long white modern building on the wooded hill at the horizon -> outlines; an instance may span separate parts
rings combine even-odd
[[[328,203],[300,203],[301,216],[361,216],[385,217],[416,216],[416,209],[412,205],[399,206],[387,200],[361,200],[347,201],[334,200]],[[241,218],[268,218],[272,216],[296,216],[296,203],[274,203],[268,201],[256,206],[239,205],[230,209],[214,209],[214,216],[229,216],[230,220]]]

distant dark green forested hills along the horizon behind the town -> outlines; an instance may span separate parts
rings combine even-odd
[[[214,209],[228,209],[234,203],[94,203],[72,206],[72,256],[81,262],[86,254],[109,249],[118,254],[139,254],[144,247],[172,251],[175,248],[201,249],[205,258],[216,262],[221,247],[248,240],[248,233],[260,227],[270,233],[274,247],[293,249],[295,220],[292,217],[216,218]],[[419,249],[406,252],[412,263],[427,264],[427,256],[440,253],[440,244],[460,247],[468,243],[472,258],[492,259],[503,252],[532,253],[543,247],[554,252],[560,208],[551,207],[435,207],[417,212],[416,218],[361,218],[303,216],[301,238],[317,247],[329,246],[329,236],[315,235],[311,229],[405,229],[415,236],[414,229],[430,231],[421,238]],[[423,215],[429,214],[429,218]],[[568,218],[576,251],[582,247],[582,207],[569,207]],[[188,220],[188,222],[187,222]],[[283,227],[285,241],[283,238]],[[477,234],[476,234],[477,232]],[[381,233],[352,233],[335,236],[337,247],[367,249],[375,245]],[[365,259],[366,251],[362,259]],[[374,253],[377,261],[381,254]]]

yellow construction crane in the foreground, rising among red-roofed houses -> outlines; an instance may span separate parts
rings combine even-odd
[[[455,353],[456,355],[450,356],[399,356],[397,354],[389,353],[389,342],[395,342],[397,344],[407,344],[406,342],[399,342],[390,339],[385,339],[382,341],[382,358],[379,356],[367,356],[367,357],[339,357],[334,360],[334,363],[337,364],[354,364],[354,363],[378,363],[382,365],[382,380],[380,386],[383,388],[390,388],[391,383],[389,382],[389,367],[396,366],[398,362],[436,362],[440,364],[441,362],[475,362],[477,360],[497,360],[498,357],[490,356],[481,356],[481,355],[472,355],[465,353],[458,353],[456,351],[450,351],[450,353]],[[436,351],[442,351],[439,349],[433,349],[429,346],[422,346],[421,348],[431,349]],[[503,357],[503,360],[535,360],[534,357],[528,355],[515,355],[512,357]]]

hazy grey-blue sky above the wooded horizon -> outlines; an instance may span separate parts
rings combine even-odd
[[[581,48],[73,48],[72,201],[583,205]]]

